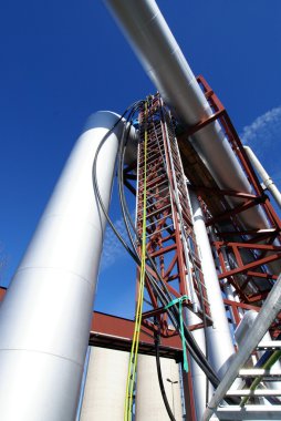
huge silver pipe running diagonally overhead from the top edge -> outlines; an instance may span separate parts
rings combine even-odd
[[[179,45],[154,0],[104,0],[126,35],[150,80],[165,101],[188,125],[210,116],[212,111]],[[251,193],[221,126],[215,122],[190,138],[194,147],[221,188]],[[237,198],[229,198],[235,205]],[[240,214],[248,228],[264,228],[260,208]]]

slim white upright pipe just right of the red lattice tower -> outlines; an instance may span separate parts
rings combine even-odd
[[[231,335],[226,316],[225,305],[221,296],[220,285],[211,254],[209,238],[204,220],[200,204],[194,192],[190,192],[190,202],[194,214],[194,229],[196,240],[200,250],[205,286],[210,305],[212,327],[207,328],[207,341],[209,360],[214,369],[221,378],[235,352]]]

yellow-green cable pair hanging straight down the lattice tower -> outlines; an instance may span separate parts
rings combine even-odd
[[[135,316],[135,328],[132,342],[132,349],[129,355],[128,373],[126,382],[126,396],[125,396],[125,410],[124,410],[124,421],[131,421],[132,408],[133,408],[133,392],[134,382],[137,366],[137,352],[139,343],[139,333],[142,325],[142,312],[143,312],[143,301],[144,301],[144,285],[145,285],[145,258],[146,258],[146,161],[147,161],[147,103],[145,103],[145,140],[144,140],[144,201],[143,201],[143,233],[142,233],[142,256],[140,256],[140,275],[139,275],[139,290],[137,298],[136,316]]]

